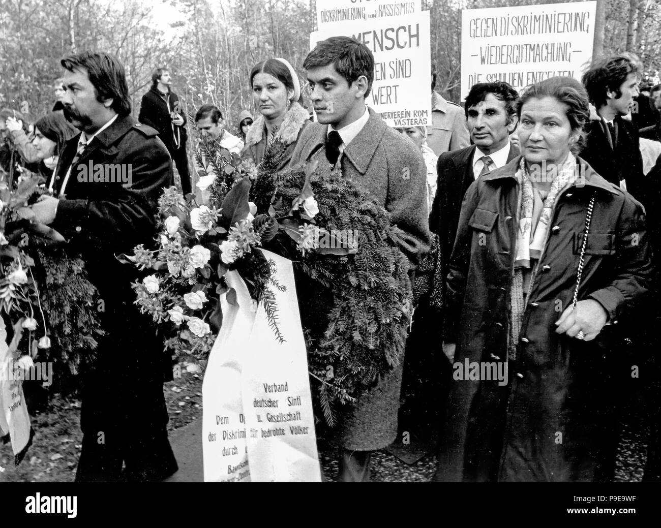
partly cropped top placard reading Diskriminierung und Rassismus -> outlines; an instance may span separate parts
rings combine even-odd
[[[317,0],[317,29],[325,24],[419,13],[421,0]]]

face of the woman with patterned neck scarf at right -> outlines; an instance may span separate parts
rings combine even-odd
[[[555,97],[532,98],[521,109],[518,135],[521,153],[528,163],[557,165],[570,149],[572,133],[567,105]]]

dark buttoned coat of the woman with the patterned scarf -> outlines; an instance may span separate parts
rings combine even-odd
[[[479,178],[463,201],[444,328],[446,342],[457,343],[455,367],[507,358],[519,163],[520,157]],[[553,211],[508,383],[453,381],[437,474],[442,480],[612,478],[615,381],[623,365],[600,336],[569,338],[555,332],[555,322],[572,303],[592,196],[579,301],[598,301],[615,324],[648,288],[650,250],[641,204],[582,159],[578,163],[584,184],[565,190]]]

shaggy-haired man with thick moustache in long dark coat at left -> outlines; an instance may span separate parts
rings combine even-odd
[[[42,196],[32,209],[36,221],[52,225],[67,248],[81,254],[106,332],[83,379],[76,480],[161,480],[177,469],[163,396],[170,358],[134,305],[136,268],[115,255],[152,245],[157,200],[173,183],[172,162],[157,131],[130,116],[124,67],[116,58],[85,52],[61,64],[64,112],[83,132],[61,153],[57,198]]]

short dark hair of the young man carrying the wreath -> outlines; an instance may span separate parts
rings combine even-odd
[[[303,69],[323,67],[331,63],[349,85],[358,81],[358,77],[367,77],[368,89],[365,97],[369,95],[374,81],[374,56],[365,44],[348,36],[333,36],[317,42],[315,49],[305,57]]]

